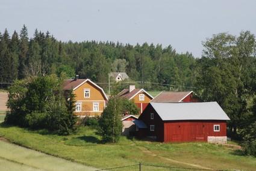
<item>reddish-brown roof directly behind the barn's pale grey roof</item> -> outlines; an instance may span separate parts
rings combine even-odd
[[[175,102],[181,102],[184,98],[186,98],[188,95],[193,93],[193,91],[181,91],[181,92],[175,92],[175,91],[163,91],[160,92],[151,102],[153,103],[175,103]]]

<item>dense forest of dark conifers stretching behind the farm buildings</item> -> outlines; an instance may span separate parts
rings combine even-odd
[[[13,82],[33,75],[60,74],[108,82],[108,73],[126,72],[131,80],[180,86],[193,86],[196,59],[189,53],[178,54],[171,46],[84,41],[63,43],[49,32],[35,31],[28,38],[24,25],[10,37],[5,29],[1,37],[0,82]],[[148,89],[160,88],[147,84]],[[152,87],[151,87],[152,86]],[[172,87],[173,87],[172,86]]]

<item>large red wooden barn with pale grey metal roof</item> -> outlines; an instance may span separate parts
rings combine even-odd
[[[160,142],[226,143],[226,121],[217,102],[150,103],[134,121],[139,137]]]

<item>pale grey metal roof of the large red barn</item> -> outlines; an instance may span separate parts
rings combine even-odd
[[[163,121],[230,120],[216,101],[202,103],[150,103]]]

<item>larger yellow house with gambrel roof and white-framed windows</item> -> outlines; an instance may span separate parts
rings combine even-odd
[[[90,79],[64,80],[63,90],[72,90],[75,94],[75,114],[78,116],[99,116],[108,101],[104,90]]]

